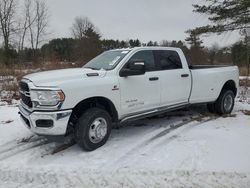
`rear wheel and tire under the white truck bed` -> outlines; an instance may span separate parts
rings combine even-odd
[[[222,90],[215,102],[215,110],[219,115],[230,114],[234,108],[235,95],[231,90]]]

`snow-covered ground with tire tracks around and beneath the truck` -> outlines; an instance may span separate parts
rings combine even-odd
[[[93,152],[33,135],[0,103],[0,187],[249,188],[249,103],[227,117],[195,106],[137,121]]]

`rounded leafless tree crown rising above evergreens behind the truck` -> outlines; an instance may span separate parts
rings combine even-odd
[[[71,31],[76,39],[82,39],[89,29],[95,31],[94,24],[87,17],[81,16],[75,18]]]

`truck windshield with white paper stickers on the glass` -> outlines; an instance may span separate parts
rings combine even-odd
[[[111,70],[113,69],[127,54],[129,50],[106,51],[89,61],[83,68],[94,70]]]

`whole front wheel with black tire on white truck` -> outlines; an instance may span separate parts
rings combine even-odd
[[[91,108],[78,119],[76,142],[83,150],[93,151],[107,142],[111,128],[110,115],[100,108]]]

